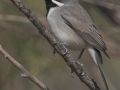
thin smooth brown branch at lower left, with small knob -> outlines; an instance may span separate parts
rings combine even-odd
[[[14,66],[16,66],[21,72],[21,76],[24,78],[30,79],[34,82],[38,87],[42,90],[49,90],[42,82],[40,82],[35,76],[30,74],[19,62],[17,62],[14,58],[12,58],[0,45],[0,53],[7,58]]]

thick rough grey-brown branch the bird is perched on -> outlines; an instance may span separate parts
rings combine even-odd
[[[67,63],[67,65],[71,68],[71,70],[76,73],[79,79],[84,82],[91,90],[101,90],[97,83],[90,79],[83,71],[80,63],[75,62],[75,60],[70,56],[69,52],[66,51],[64,45],[60,44],[49,32],[48,30],[42,25],[39,19],[34,15],[34,13],[28,9],[20,0],[10,0],[22,13],[24,13],[27,18],[36,26],[39,30],[40,34],[42,34],[51,46],[59,53]]]

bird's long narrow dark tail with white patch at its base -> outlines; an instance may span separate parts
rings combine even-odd
[[[94,60],[94,62],[96,63],[96,65],[100,71],[100,74],[102,76],[102,79],[103,79],[105,87],[106,87],[106,90],[109,90],[108,85],[107,85],[107,81],[105,79],[104,72],[103,72],[102,67],[101,67],[103,60],[102,60],[102,56],[101,56],[100,51],[97,49],[88,49],[88,51],[89,51],[89,54],[91,55],[92,59]]]

